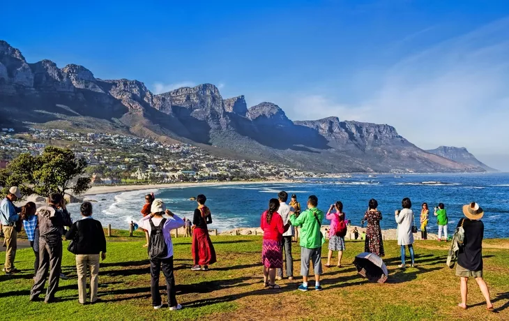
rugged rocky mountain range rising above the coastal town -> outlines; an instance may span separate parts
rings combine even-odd
[[[248,108],[200,84],[153,94],[137,80],[101,80],[75,64],[29,64],[0,40],[0,126],[107,131],[195,144],[218,156],[319,172],[485,172],[471,158],[424,151],[386,124],[291,121],[273,103]],[[473,156],[472,156],[473,157]],[[475,158],[473,158],[475,159]]]

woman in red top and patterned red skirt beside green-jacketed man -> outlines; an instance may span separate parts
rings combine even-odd
[[[264,245],[261,250],[261,263],[264,264],[265,288],[280,289],[275,284],[275,271],[283,267],[283,252],[281,239],[290,223],[283,225],[283,219],[278,214],[280,202],[273,198],[268,202],[268,210],[261,214],[261,230],[264,231]]]

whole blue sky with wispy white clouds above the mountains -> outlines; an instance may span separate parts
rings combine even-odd
[[[5,2],[0,38],[29,62],[155,92],[209,82],[294,120],[386,123],[509,170],[509,1]]]

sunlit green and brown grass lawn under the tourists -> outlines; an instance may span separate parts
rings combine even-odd
[[[499,313],[485,311],[475,281],[469,281],[469,308],[457,308],[459,279],[445,266],[448,244],[418,241],[416,268],[398,269],[400,249],[386,241],[389,279],[367,283],[351,262],[363,251],[362,241],[347,241],[342,269],[324,267],[322,292],[299,292],[298,281],[280,281],[282,290],[262,284],[261,237],[212,237],[218,263],[211,271],[190,271],[190,238],[174,239],[177,299],[184,308],[154,311],[150,297],[149,261],[144,237],[115,231],[107,260],[101,262],[99,297],[102,303],[81,306],[77,301],[74,256],[64,250],[63,272],[56,304],[29,302],[33,252],[18,251],[15,276],[0,275],[3,320],[509,320],[509,240],[485,241],[485,279]],[[66,244],[64,246],[67,246]],[[294,244],[294,271],[300,270],[300,248]],[[326,245],[323,256],[326,256]],[[3,264],[5,253],[0,253]],[[324,262],[325,263],[325,262]],[[161,290],[165,289],[161,274]],[[312,280],[310,285],[314,285]],[[163,302],[166,297],[163,295]]]

